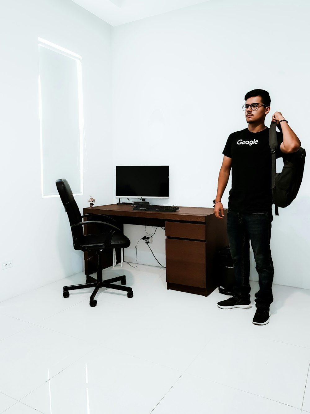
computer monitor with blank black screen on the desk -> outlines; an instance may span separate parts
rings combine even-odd
[[[116,198],[169,198],[169,166],[117,166]]]

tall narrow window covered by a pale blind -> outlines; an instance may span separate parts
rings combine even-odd
[[[42,197],[58,195],[66,178],[83,194],[83,94],[81,56],[38,38]]]

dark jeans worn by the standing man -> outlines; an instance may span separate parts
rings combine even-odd
[[[256,262],[260,290],[255,294],[256,307],[269,308],[273,301],[273,263],[270,252],[272,213],[240,213],[229,209],[227,233],[234,262],[236,283],[234,298],[240,303],[250,300],[250,241]]]

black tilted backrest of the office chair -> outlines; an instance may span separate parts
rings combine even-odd
[[[70,226],[73,224],[80,223],[82,221],[82,216],[79,210],[79,207],[74,200],[72,190],[68,181],[65,178],[61,178],[56,181],[56,187],[60,195],[64,209],[66,210],[70,222]],[[79,241],[83,238],[83,226],[71,227],[73,244],[79,244]]]

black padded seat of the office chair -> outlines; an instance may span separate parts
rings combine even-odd
[[[126,248],[130,246],[129,238],[117,231],[113,234],[111,241],[107,242],[107,239],[107,234],[87,234],[86,236],[83,236],[79,244],[85,249],[83,249],[83,251],[104,248]]]

